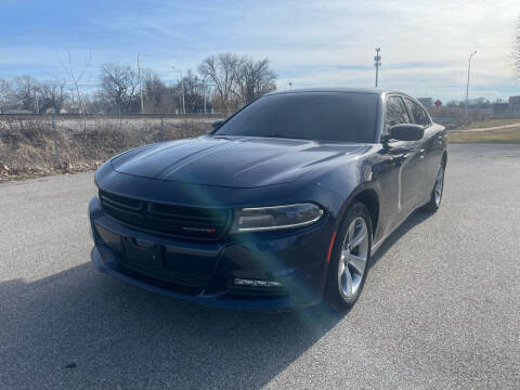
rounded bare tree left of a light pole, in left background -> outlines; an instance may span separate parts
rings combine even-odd
[[[101,67],[101,86],[104,98],[119,113],[130,112],[139,87],[139,77],[132,67],[104,64]]]

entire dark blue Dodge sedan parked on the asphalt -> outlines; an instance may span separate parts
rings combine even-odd
[[[406,94],[290,90],[213,126],[96,171],[100,271],[212,307],[340,311],[385,238],[440,206],[445,129]]]

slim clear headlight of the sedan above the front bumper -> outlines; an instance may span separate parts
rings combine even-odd
[[[306,226],[322,216],[323,209],[314,204],[236,209],[232,231],[236,233]]]

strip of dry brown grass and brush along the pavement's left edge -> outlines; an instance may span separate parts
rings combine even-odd
[[[101,119],[90,122],[84,132],[74,125],[68,128],[56,122],[61,154],[57,167],[50,120],[0,122],[0,181],[95,169],[118,153],[162,140],[160,120],[134,126]],[[203,119],[166,120],[164,135],[165,140],[177,140],[198,136],[210,129],[210,121]]]

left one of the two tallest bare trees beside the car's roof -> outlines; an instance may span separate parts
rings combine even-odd
[[[198,66],[198,72],[214,83],[214,90],[224,109],[231,114],[237,106],[235,92],[236,77],[239,73],[242,58],[233,53],[210,55]]]

